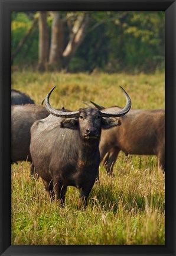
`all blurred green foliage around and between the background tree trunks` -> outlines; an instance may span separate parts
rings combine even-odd
[[[69,14],[71,23],[82,12]],[[132,73],[164,70],[164,12],[159,11],[99,11],[89,12],[87,34],[72,57],[70,72],[92,72],[98,68],[106,72]],[[34,14],[32,14],[34,15]],[[12,53],[32,23],[28,12],[12,12]],[[51,31],[52,15],[48,12]],[[64,25],[64,46],[69,40],[69,27]],[[38,62],[38,28],[32,31],[14,65],[28,66]]]

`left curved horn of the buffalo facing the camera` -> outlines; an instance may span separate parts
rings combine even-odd
[[[49,98],[50,98],[50,95],[51,95],[51,92],[53,92],[53,90],[55,89],[56,87],[53,87],[51,89],[51,91],[48,92],[47,96],[45,97],[45,108],[46,110],[52,114],[53,116],[57,116],[57,117],[64,117],[64,118],[67,118],[67,117],[79,117],[79,111],[74,111],[74,112],[63,112],[63,111],[60,111],[60,110],[56,110],[54,109],[53,107],[51,107],[50,103],[49,103]]]

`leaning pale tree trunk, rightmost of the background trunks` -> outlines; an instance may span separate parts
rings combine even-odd
[[[86,36],[87,26],[89,23],[89,14],[78,15],[71,30],[70,41],[63,52],[63,68],[67,69],[71,57],[73,57],[77,48]]]

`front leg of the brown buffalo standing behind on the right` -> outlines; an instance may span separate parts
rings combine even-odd
[[[116,162],[116,159],[118,158],[119,151],[119,148],[114,147],[105,156],[105,159],[103,160],[103,165],[107,171],[107,174],[112,175],[113,166]]]

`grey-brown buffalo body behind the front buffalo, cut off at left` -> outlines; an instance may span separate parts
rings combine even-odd
[[[32,162],[30,155],[30,129],[34,121],[44,119],[49,115],[41,105],[12,105],[11,108],[11,161]],[[31,165],[31,175],[34,174]]]

